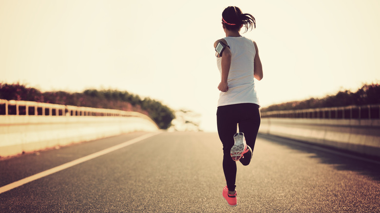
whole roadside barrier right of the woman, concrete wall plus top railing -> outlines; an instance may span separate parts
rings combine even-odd
[[[259,132],[380,158],[380,105],[269,111]]]

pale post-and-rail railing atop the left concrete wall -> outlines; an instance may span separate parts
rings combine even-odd
[[[15,101],[0,99],[0,116],[122,116],[144,117],[149,116],[139,112],[117,109],[102,109],[82,106],[67,106],[58,104],[39,103],[33,101]]]

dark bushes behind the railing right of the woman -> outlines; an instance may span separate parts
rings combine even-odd
[[[339,91],[335,95],[324,98],[310,98],[304,101],[292,101],[282,104],[271,105],[261,109],[262,112],[277,110],[294,110],[308,108],[323,108],[337,106],[362,106],[380,104],[380,85],[377,83],[364,84],[356,92],[349,90]]]

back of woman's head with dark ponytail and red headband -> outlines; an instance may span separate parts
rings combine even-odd
[[[256,28],[255,18],[245,13],[243,14],[239,7],[229,6],[224,9],[222,13],[222,23],[226,26],[227,30],[235,31],[239,30],[241,27],[245,27],[246,33],[248,29]]]

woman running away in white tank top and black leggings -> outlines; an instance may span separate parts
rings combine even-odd
[[[263,68],[256,43],[240,35],[242,27],[246,28],[245,32],[256,28],[255,18],[243,14],[238,7],[229,6],[222,13],[222,26],[226,37],[214,43],[221,73],[216,115],[227,182],[223,197],[230,206],[236,206],[236,161],[248,165],[252,158],[260,126],[254,78],[259,81],[263,78]]]

